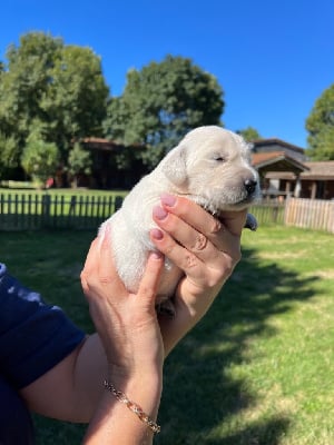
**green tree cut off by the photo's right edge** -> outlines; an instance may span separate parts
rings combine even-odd
[[[307,120],[308,154],[314,160],[334,160],[334,83],[316,100]]]

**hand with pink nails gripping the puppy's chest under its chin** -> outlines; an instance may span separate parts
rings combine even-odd
[[[175,318],[160,319],[166,354],[208,310],[239,261],[245,219],[246,210],[224,212],[218,220],[186,198],[161,196],[161,206],[154,209],[159,229],[150,238],[185,273]]]

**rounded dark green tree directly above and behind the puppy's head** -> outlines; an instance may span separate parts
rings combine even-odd
[[[128,72],[124,95],[108,106],[105,136],[146,146],[143,160],[155,166],[190,129],[219,125],[223,110],[223,90],[214,76],[190,59],[167,56]]]

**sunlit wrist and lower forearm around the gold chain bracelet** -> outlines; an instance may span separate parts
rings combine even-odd
[[[159,373],[143,373],[124,384],[115,384],[124,395],[156,422],[161,396],[161,376]],[[96,413],[86,433],[85,445],[124,444],[149,445],[153,429],[129,407],[119,402],[108,389],[104,390]]]

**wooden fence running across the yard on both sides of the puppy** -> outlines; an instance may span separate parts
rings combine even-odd
[[[75,228],[96,230],[122,202],[121,196],[0,195],[0,230]],[[334,201],[288,198],[249,209],[261,225],[278,224],[334,233]]]

